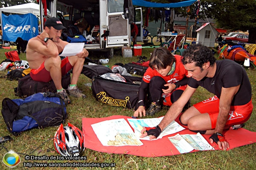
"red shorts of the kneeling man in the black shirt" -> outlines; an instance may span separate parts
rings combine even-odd
[[[193,106],[198,109],[200,113],[208,113],[211,119],[212,129],[215,129],[219,114],[219,98],[215,95],[205,101],[201,101]],[[253,112],[252,100],[247,104],[241,106],[230,106],[229,117],[226,126],[233,126],[246,122]]]

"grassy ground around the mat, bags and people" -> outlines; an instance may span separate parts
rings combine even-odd
[[[6,59],[4,52],[10,51],[6,49],[0,49],[0,61]],[[153,48],[143,48],[143,54],[149,59],[150,52]],[[92,59],[100,59],[101,57]],[[26,60],[25,54],[20,55],[21,60]],[[132,58],[122,58],[121,52],[116,51],[113,58],[109,60],[108,66],[112,66],[114,63],[129,63],[132,61],[138,61],[137,57]],[[7,71],[1,71],[0,76],[7,74]],[[250,78],[252,89],[253,89],[253,105],[256,105],[256,70],[247,69],[247,74]],[[81,75],[79,78],[78,86],[87,95],[86,99],[72,98],[72,104],[67,106],[68,118],[67,122],[74,124],[81,129],[82,122],[81,118],[102,118],[111,115],[126,115],[131,116],[133,110],[124,109],[119,107],[111,107],[106,104],[102,104],[92,95],[90,87],[85,84],[90,83],[91,80],[85,75]],[[4,98],[18,98],[15,96],[14,89],[17,87],[17,81],[9,81],[5,78],[0,78],[0,101]],[[192,96],[191,103],[207,99],[212,96],[205,89],[199,88],[197,92]],[[161,110],[159,113],[154,115],[154,117],[159,117],[165,115],[167,109]],[[251,118],[247,121],[244,127],[247,130],[256,132],[256,111],[253,109],[253,114]],[[64,125],[66,125],[64,124]],[[102,127],[104,128],[104,127]],[[58,127],[47,127],[45,129],[33,129],[30,131],[23,132],[20,136],[13,136],[6,129],[6,124],[3,121],[2,116],[0,116],[0,136],[11,135],[13,140],[7,143],[1,144],[0,146],[0,159],[9,151],[13,150],[19,154],[21,162],[15,167],[15,169],[26,169],[23,167],[23,161],[25,160],[25,155],[35,155],[35,156],[57,156],[58,153],[55,151],[53,146],[52,137],[55,135],[55,131]],[[85,139],[87,140],[87,139]],[[161,146],[155,146],[161,147]],[[150,149],[150,148],[148,148]],[[147,158],[133,155],[125,154],[112,154],[112,153],[101,153],[90,149],[85,149],[83,156],[87,156],[87,161],[80,162],[95,162],[95,163],[116,163],[116,167],[105,167],[104,169],[111,170],[162,170],[162,169],[172,169],[172,170],[253,170],[256,167],[256,144],[250,144],[243,147],[235,148],[233,150],[222,151],[202,151],[195,153],[186,153],[176,156],[162,156],[156,158]],[[32,161],[33,162],[33,161]],[[34,162],[77,162],[77,161],[34,161]],[[0,164],[0,169],[9,169],[5,164]],[[40,170],[82,170],[86,168],[76,167],[76,168],[64,168],[64,167],[33,167],[32,169]],[[92,168],[92,169],[102,169],[102,168]]]

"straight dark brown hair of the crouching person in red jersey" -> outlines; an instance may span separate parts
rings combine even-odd
[[[151,54],[149,66],[151,69],[154,69],[154,66],[157,66],[157,69],[166,69],[167,66],[171,66],[175,61],[175,57],[168,49],[158,47]]]

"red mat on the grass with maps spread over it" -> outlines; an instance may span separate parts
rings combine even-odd
[[[124,118],[127,121],[127,118],[131,118],[128,116],[122,115],[113,115],[106,118],[82,118],[82,128],[84,133],[84,147],[89,148],[91,150],[96,150],[99,152],[105,153],[118,153],[118,154],[129,154],[136,156],[145,156],[145,157],[156,157],[156,156],[172,156],[178,155],[180,152],[176,149],[176,147],[169,141],[168,137],[174,136],[167,135],[162,139],[146,141],[141,140],[143,145],[141,146],[103,146],[99,141],[98,137],[93,131],[91,124],[99,123],[101,121]],[[128,122],[128,121],[127,121]],[[104,128],[104,127],[102,127]],[[178,132],[180,135],[183,134],[196,134],[191,132],[190,130],[182,130]],[[241,147],[247,144],[253,144],[256,142],[256,132],[250,132],[249,130],[240,128],[238,130],[227,130],[224,132],[225,138],[230,144],[230,149],[235,147]],[[204,138],[209,142],[210,135],[203,135]],[[217,144],[213,143],[212,147],[215,150],[219,150]],[[197,152],[198,150],[193,150],[192,152]]]

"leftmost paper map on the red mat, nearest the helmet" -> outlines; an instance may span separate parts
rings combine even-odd
[[[102,121],[91,126],[103,146],[143,145],[123,118]]]

